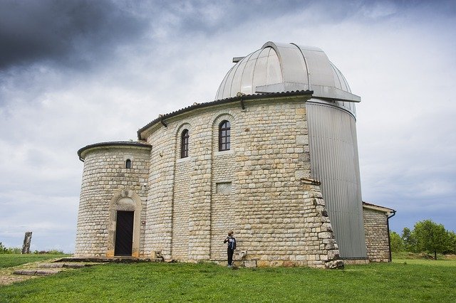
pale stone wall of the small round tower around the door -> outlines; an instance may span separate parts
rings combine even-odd
[[[133,255],[144,250],[150,147],[103,146],[83,152],[76,257],[114,255],[116,211],[135,211]],[[125,168],[130,159],[131,168]]]

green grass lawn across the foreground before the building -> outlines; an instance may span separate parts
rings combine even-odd
[[[444,262],[345,270],[108,264],[0,287],[0,302],[456,302],[456,266]]]

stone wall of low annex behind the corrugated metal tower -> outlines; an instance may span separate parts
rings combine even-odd
[[[368,259],[371,262],[388,262],[390,250],[387,214],[382,211],[363,208],[363,218]]]

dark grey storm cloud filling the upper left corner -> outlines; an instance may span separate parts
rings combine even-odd
[[[128,7],[107,0],[0,1],[0,69],[97,60],[144,28]]]

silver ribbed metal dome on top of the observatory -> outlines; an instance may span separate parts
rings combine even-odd
[[[215,100],[235,97],[238,92],[313,90],[314,97],[335,101],[353,115],[351,102],[361,101],[320,48],[269,41],[246,57],[233,58],[233,62],[237,64],[225,75]]]

